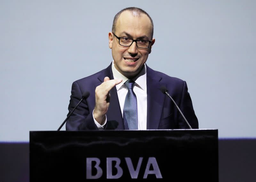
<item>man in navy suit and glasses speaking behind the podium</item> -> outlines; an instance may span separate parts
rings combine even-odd
[[[153,21],[139,8],[126,8],[114,18],[108,33],[113,62],[108,68],[72,84],[66,130],[185,129],[187,123],[172,100],[160,91],[165,86],[193,129],[198,121],[187,84],[150,69],[145,63],[152,46]],[[129,87],[130,85],[130,87]]]

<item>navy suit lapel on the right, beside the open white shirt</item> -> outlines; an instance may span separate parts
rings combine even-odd
[[[164,104],[164,94],[159,90],[161,76],[147,66],[147,129],[157,129]]]

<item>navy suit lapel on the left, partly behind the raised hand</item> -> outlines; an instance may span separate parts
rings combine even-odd
[[[111,79],[114,79],[112,73],[112,63],[103,70],[102,74],[98,77],[100,80],[100,84],[104,81],[104,78],[108,76]],[[96,84],[95,88],[100,85]],[[119,105],[119,100],[117,96],[116,87],[113,87],[110,91],[110,105],[108,107],[107,112],[107,128],[106,129],[124,129],[123,117],[122,112]]]

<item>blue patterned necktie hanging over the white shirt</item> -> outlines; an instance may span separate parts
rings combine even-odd
[[[124,83],[126,88],[128,88],[123,112],[125,130],[138,130],[137,98],[132,90],[134,83],[132,80],[127,80]]]

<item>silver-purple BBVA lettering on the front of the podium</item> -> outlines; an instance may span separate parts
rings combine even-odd
[[[141,167],[141,163],[143,160],[143,157],[139,158],[139,162],[136,166],[136,169],[133,168],[132,160],[130,157],[125,157],[125,162],[127,164],[128,170],[130,172],[132,179],[137,179]],[[117,173],[113,175],[112,173],[112,162],[115,161],[116,165],[114,168],[116,168]],[[95,164],[92,166],[92,162]],[[123,169],[120,167],[121,160],[118,157],[107,157],[107,179],[118,179],[121,178],[123,175]],[[150,165],[152,165],[153,170],[150,170]],[[96,174],[92,175],[92,168],[96,169]],[[151,169],[152,169],[151,168]],[[100,167],[100,159],[97,157],[87,157],[86,158],[86,179],[98,179],[102,176],[103,171]],[[146,165],[146,169],[143,175],[143,178],[147,178],[148,174],[155,174],[156,178],[163,178],[162,174],[160,172],[160,169],[158,167],[158,164],[156,162],[155,157],[149,157],[148,162]]]

